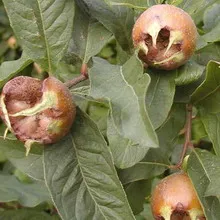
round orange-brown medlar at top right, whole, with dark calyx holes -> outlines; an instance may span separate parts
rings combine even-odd
[[[154,5],[137,19],[132,33],[139,57],[147,65],[172,70],[183,65],[196,47],[192,18],[172,5]]]

